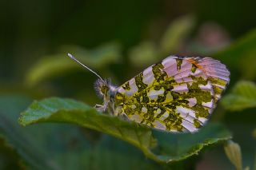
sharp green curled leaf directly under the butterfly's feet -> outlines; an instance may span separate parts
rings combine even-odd
[[[93,128],[126,140],[142,149],[149,149],[156,142],[151,135],[150,128],[98,113],[94,108],[71,99],[53,97],[34,101],[19,119],[21,125],[43,121],[69,122]]]

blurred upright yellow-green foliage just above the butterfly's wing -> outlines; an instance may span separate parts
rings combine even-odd
[[[170,23],[158,43],[142,42],[130,49],[130,61],[137,66],[149,65],[160,61],[162,56],[177,53],[194,25],[195,20],[190,15],[176,19]]]

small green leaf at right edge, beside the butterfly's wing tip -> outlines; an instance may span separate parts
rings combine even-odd
[[[256,85],[250,81],[239,81],[221,103],[232,111],[256,107]]]

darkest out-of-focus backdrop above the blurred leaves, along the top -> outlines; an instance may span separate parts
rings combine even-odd
[[[91,48],[114,40],[126,51],[146,38],[159,38],[185,14],[194,14],[198,26],[216,22],[232,39],[256,25],[254,1],[46,0],[1,1],[1,6],[0,75],[6,81],[21,79],[27,67],[60,45]]]

